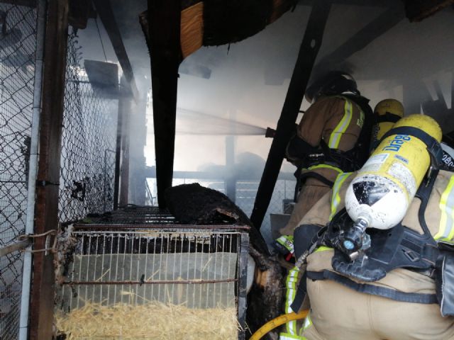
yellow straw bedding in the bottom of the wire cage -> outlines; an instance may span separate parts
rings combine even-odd
[[[55,315],[57,334],[67,340],[230,340],[238,339],[235,308],[192,309],[150,302],[103,306],[87,303]]]

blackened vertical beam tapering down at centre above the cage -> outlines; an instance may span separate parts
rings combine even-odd
[[[157,202],[160,208],[165,208],[165,189],[172,186],[178,67],[182,61],[180,18],[181,1],[148,0]]]

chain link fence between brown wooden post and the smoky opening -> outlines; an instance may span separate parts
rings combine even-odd
[[[68,37],[59,217],[113,209],[118,99],[104,98],[82,67],[77,30]]]

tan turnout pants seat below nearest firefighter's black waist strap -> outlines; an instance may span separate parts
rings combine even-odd
[[[331,280],[307,280],[311,325],[307,340],[448,340],[454,318],[438,304],[398,302],[358,293]]]

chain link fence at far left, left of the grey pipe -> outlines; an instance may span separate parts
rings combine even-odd
[[[0,249],[25,233],[37,11],[0,4]],[[0,256],[0,339],[17,339],[23,253]]]

